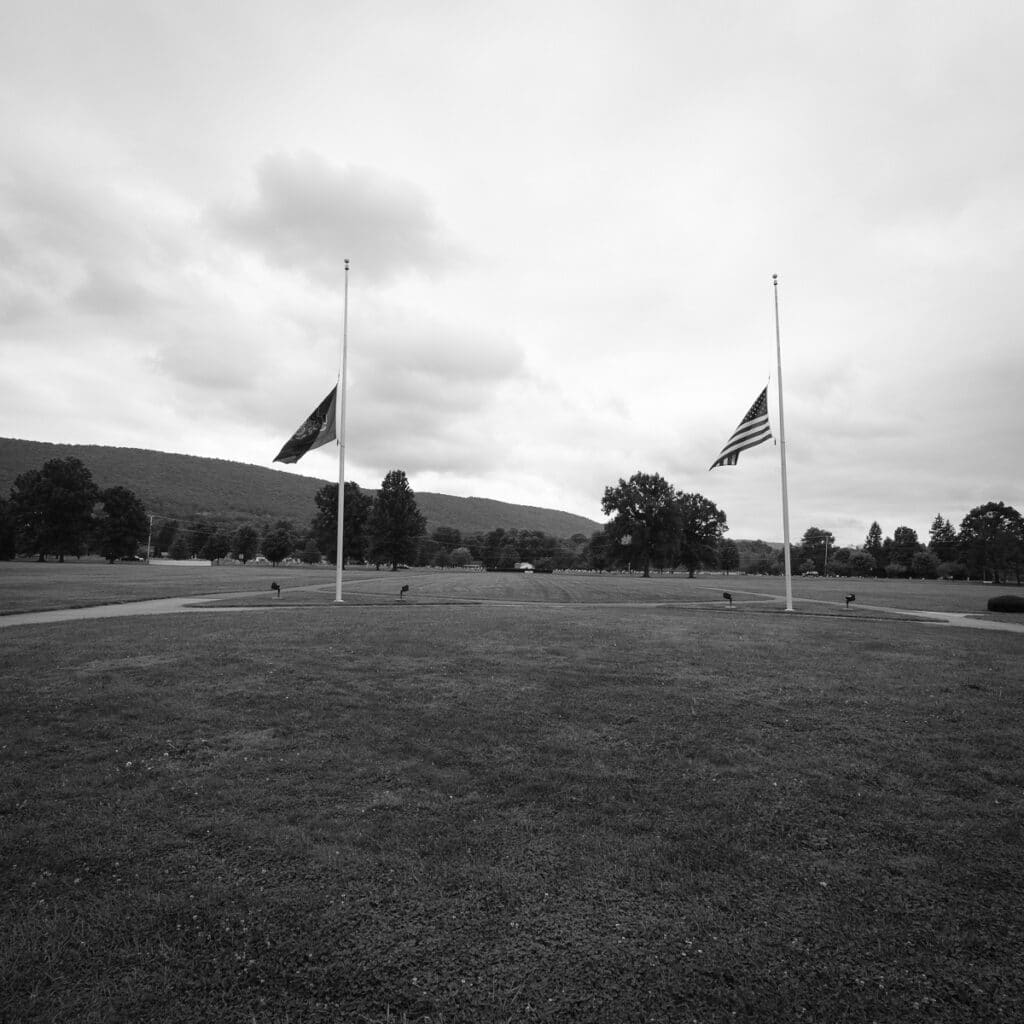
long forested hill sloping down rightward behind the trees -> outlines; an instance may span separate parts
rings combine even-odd
[[[68,457],[80,459],[97,486],[121,484],[138,495],[146,511],[175,519],[201,515],[231,522],[290,519],[298,526],[305,526],[315,512],[313,496],[327,482],[225,459],[0,437],[0,498],[10,494],[20,473],[39,469],[49,459]],[[488,498],[417,492],[416,502],[427,518],[428,530],[455,526],[463,534],[472,534],[504,526],[540,529],[552,537],[567,538],[573,534],[590,537],[600,528],[600,523],[568,512],[511,505]]]

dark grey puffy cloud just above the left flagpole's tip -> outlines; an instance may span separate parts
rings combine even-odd
[[[380,171],[276,155],[260,164],[256,186],[249,203],[213,207],[213,223],[268,263],[322,284],[339,287],[346,259],[378,284],[459,259],[426,196]]]

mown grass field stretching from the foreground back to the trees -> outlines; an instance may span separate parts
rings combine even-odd
[[[1024,1018],[991,588],[206,571],[0,632],[0,1020]]]

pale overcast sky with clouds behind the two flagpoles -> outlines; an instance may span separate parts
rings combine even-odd
[[[781,540],[1024,511],[1024,6],[5,0],[0,435]],[[333,447],[289,471],[337,478]]]

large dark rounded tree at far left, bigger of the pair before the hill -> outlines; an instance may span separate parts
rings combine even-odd
[[[80,459],[50,459],[14,480],[10,502],[25,551],[39,555],[79,555],[92,528],[99,497],[92,474]]]

